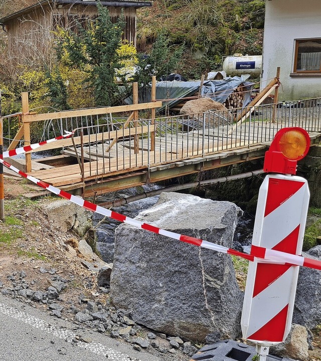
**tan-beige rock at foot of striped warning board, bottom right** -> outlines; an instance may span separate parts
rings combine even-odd
[[[307,361],[309,359],[307,331],[304,326],[292,324],[285,341],[271,347],[271,352],[280,357]]]

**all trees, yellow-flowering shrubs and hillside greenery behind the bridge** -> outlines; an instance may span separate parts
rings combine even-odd
[[[0,0],[0,17],[35,3]],[[128,96],[132,81],[143,92],[152,75],[159,79],[177,72],[187,80],[200,79],[221,67],[222,56],[261,54],[264,7],[264,0],[155,0],[152,7],[137,10],[137,49],[121,45],[115,29],[123,22],[112,25],[106,20],[107,9],[101,10],[95,25],[86,31],[57,31],[47,61],[42,56],[33,58],[15,69],[10,59],[0,64],[3,114],[21,110],[22,91],[29,92],[30,106],[37,109],[116,105]],[[97,29],[100,41],[92,42]],[[108,35],[109,31],[114,35]],[[104,38],[109,41],[103,42]],[[111,43],[116,44],[112,51]],[[94,48],[102,59],[97,64],[92,62]],[[5,32],[1,32],[0,50],[5,59]],[[124,85],[122,94],[115,85],[116,76]]]

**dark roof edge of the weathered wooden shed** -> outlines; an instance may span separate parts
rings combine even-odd
[[[51,4],[62,4],[62,5],[86,5],[86,6],[97,6],[97,1],[93,0],[43,0],[39,3],[32,5],[28,8],[22,9],[16,13],[8,15],[2,19],[0,19],[0,24],[6,24],[10,20],[19,18],[22,15],[26,15],[31,13],[32,11],[39,9],[45,5]],[[105,7],[121,7],[121,8],[143,8],[143,7],[150,7],[152,5],[149,1],[134,1],[134,0],[103,0],[100,1],[100,4]]]

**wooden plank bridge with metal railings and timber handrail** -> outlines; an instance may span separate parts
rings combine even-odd
[[[261,158],[284,127],[304,128],[312,145],[321,137],[320,99],[156,118],[154,109],[161,104],[30,114],[23,93],[22,125],[9,149],[22,137],[30,144],[36,123],[44,125],[46,139],[71,130],[74,136],[34,151],[55,149],[59,155],[32,159],[29,152],[26,159],[9,162],[89,197]],[[138,118],[138,110],[151,116]]]

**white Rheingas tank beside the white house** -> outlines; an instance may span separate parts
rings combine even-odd
[[[260,76],[262,68],[262,55],[234,54],[227,56],[223,61],[223,70],[228,76],[250,74]]]

